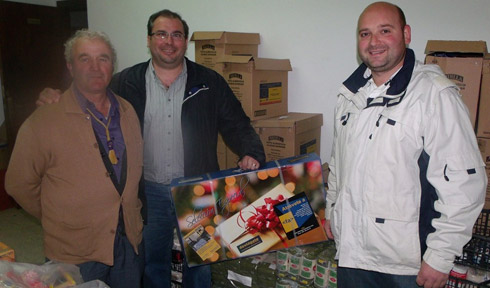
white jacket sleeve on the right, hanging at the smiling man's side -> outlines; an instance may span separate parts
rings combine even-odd
[[[423,129],[424,149],[430,155],[427,179],[441,214],[432,220],[435,232],[427,237],[423,259],[448,273],[454,257],[470,240],[472,227],[484,203],[487,177],[468,111],[454,87],[429,88],[432,105]]]

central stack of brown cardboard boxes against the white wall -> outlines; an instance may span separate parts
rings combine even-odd
[[[320,154],[322,114],[288,110],[289,59],[259,58],[258,33],[194,32],[191,40],[196,62],[222,75],[240,100],[260,135],[266,161]],[[217,154],[221,169],[237,167],[239,157],[221,138]]]

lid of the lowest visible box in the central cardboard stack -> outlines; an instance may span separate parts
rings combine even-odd
[[[253,123],[255,128],[292,128],[296,134],[320,127],[323,125],[323,115],[319,113],[289,112],[287,115],[257,120]]]

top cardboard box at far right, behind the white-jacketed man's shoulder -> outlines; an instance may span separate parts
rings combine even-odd
[[[485,41],[429,40],[425,47],[425,63],[439,65],[461,89],[473,128],[476,128],[483,56],[486,53]]]

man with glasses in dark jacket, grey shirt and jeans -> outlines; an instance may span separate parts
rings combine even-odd
[[[250,119],[223,77],[185,58],[187,23],[178,14],[162,10],[150,16],[147,29],[151,59],[114,75],[111,89],[133,105],[143,131],[145,193],[141,196],[148,204],[144,284],[170,287],[176,221],[170,181],[219,170],[218,133],[240,156],[242,169],[259,168],[265,155]],[[38,102],[52,101],[43,98]],[[185,287],[211,286],[209,266],[184,267]]]

